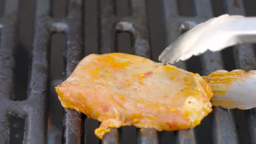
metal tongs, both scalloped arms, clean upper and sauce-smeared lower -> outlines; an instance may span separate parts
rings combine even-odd
[[[224,14],[201,24],[190,24],[192,29],[181,35],[160,54],[163,65],[185,61],[205,51],[220,51],[232,45],[256,42],[256,17]],[[195,27],[194,27],[195,26]],[[239,74],[238,74],[239,73]],[[238,74],[238,75],[237,75]],[[216,77],[214,77],[216,75]],[[218,75],[222,75],[218,77]],[[213,90],[211,103],[227,109],[251,109],[256,107],[256,71],[234,70],[213,72],[212,79],[224,79],[226,83],[209,82]]]

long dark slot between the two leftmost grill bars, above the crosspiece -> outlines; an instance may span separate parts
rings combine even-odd
[[[34,25],[35,3],[30,0],[28,3],[19,5],[19,23],[17,46],[15,48],[15,69],[14,69],[14,95],[10,99],[22,101],[27,99],[29,56],[32,51],[32,36]]]

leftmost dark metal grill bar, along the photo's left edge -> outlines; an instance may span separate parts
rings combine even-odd
[[[13,96],[14,48],[17,34],[19,0],[5,2],[4,16],[0,19],[0,143],[9,143],[9,96]]]

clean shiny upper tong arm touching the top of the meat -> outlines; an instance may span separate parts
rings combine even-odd
[[[181,35],[160,54],[159,61],[174,64],[206,50],[220,51],[232,45],[256,42],[256,17],[221,15],[200,23]]]

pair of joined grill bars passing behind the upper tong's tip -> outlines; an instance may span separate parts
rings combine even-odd
[[[184,17],[179,16],[178,7],[176,0],[163,0],[164,7],[164,19],[165,19],[165,30],[167,36],[167,42],[170,44],[181,34],[180,26],[185,21],[192,21],[200,23],[213,17],[211,11],[210,0],[195,0],[195,6],[197,16]],[[221,55],[219,52],[212,53],[207,51],[202,55],[203,74],[208,75],[209,73],[224,69]],[[180,61],[176,64],[177,67],[186,69],[184,61]],[[213,142],[214,143],[237,143],[237,133],[235,128],[235,120],[233,118],[232,110],[222,109],[219,107],[213,107]],[[206,117],[206,119],[209,117]],[[209,124],[209,123],[208,123]],[[189,132],[188,132],[189,131]],[[202,137],[202,136],[200,136]],[[203,138],[203,137],[202,137]],[[177,141],[180,143],[189,142],[196,143],[194,130],[184,130],[177,132]]]

